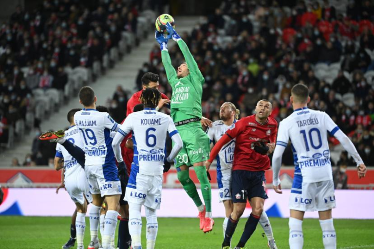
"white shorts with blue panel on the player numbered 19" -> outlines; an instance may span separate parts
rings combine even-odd
[[[121,182],[118,179],[118,170],[115,164],[87,165],[84,167],[90,192],[93,195],[104,196],[121,195]]]

